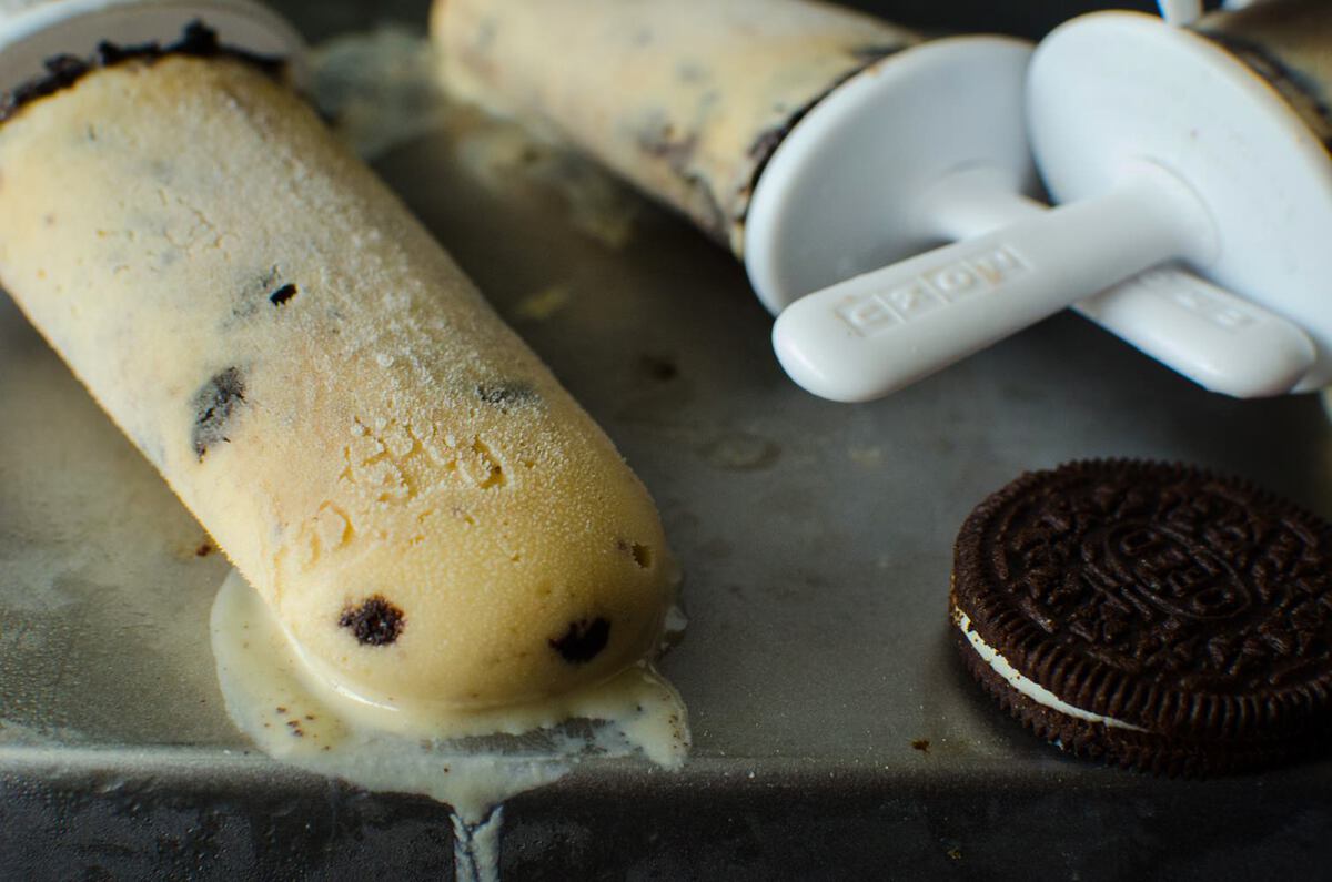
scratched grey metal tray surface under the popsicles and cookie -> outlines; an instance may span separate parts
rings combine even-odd
[[[313,36],[366,24],[288,8]],[[1024,469],[1184,460],[1332,516],[1316,400],[1208,396],[1060,316],[887,401],[818,401],[725,252],[511,128],[450,120],[376,167],[653,490],[691,618],[663,662],[689,765],[587,762],[513,799],[507,877],[1229,878],[1329,857],[1332,763],[1183,783],[1067,759],[990,706],[946,624],[956,526]],[[294,773],[232,727],[206,636],[225,565],[7,300],[0,405],[0,877],[446,878],[442,807]]]

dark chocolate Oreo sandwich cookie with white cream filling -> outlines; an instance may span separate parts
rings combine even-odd
[[[1332,524],[1244,481],[1024,474],[962,526],[950,606],[986,691],[1080,757],[1201,777],[1332,734]]]

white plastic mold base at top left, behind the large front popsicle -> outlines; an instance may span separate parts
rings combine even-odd
[[[0,3],[0,91],[41,76],[47,59],[87,57],[103,40],[166,45],[192,21],[229,48],[288,59],[301,79],[300,33],[252,0],[8,0]]]

